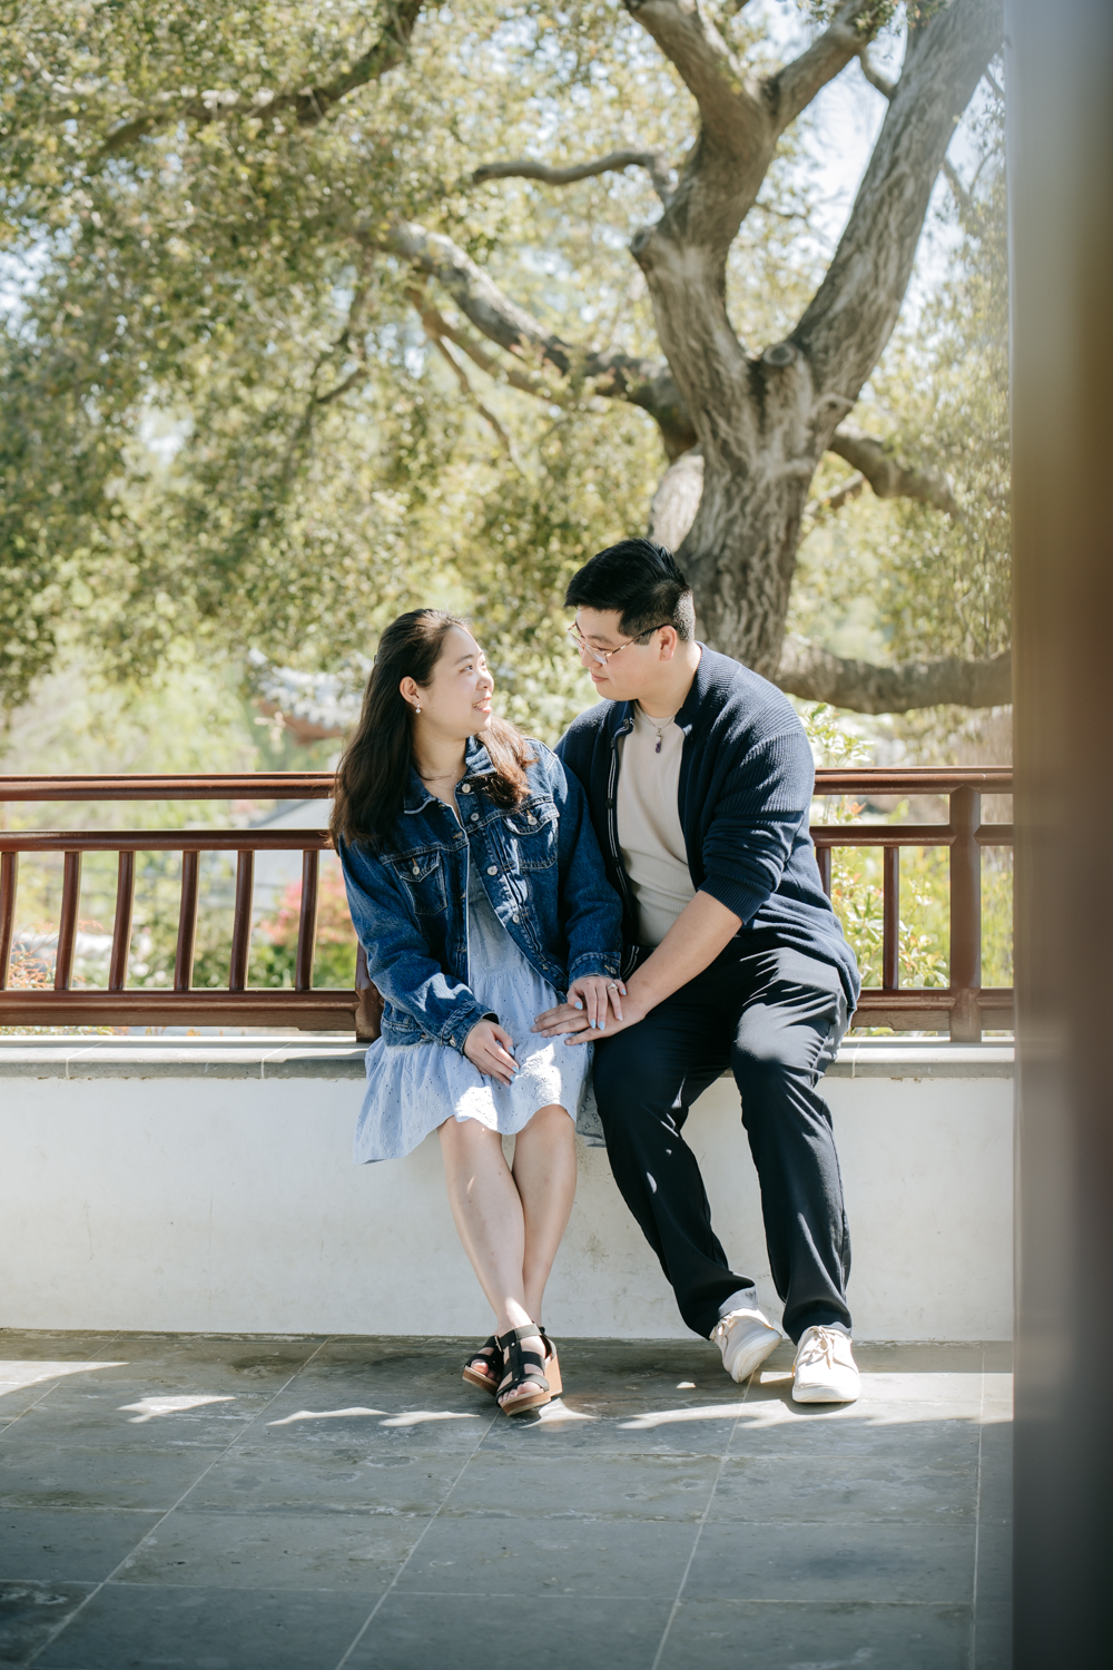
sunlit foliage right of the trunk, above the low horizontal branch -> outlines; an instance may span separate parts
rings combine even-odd
[[[971,127],[968,199],[951,199],[959,242],[914,329],[898,329],[871,379],[863,423],[908,464],[949,479],[956,511],[869,489],[819,509],[801,546],[793,626],[839,653],[878,660],[985,660],[1011,636],[1008,250],[1003,109]],[[818,499],[846,479],[824,463]]]

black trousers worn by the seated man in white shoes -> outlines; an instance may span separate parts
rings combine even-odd
[[[596,1044],[596,1101],[622,1199],[704,1338],[749,1286],[726,1261],[696,1156],[681,1136],[696,1097],[729,1067],[761,1184],[784,1331],[851,1324],[851,1247],[831,1112],[816,1086],[848,1025],[838,970],[794,950],[734,945],[644,1020]]]

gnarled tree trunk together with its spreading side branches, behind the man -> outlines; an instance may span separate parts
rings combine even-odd
[[[776,678],[811,479],[899,314],[946,147],[1001,37],[1001,0],[949,0],[931,8],[909,25],[899,82],[893,87],[873,75],[889,109],[839,247],[796,329],[761,354],[739,342],[726,311],[731,245],[781,135],[826,82],[861,57],[883,8],[873,0],[841,0],[829,27],[796,60],[759,75],[736,57],[698,0],[624,5],[699,107],[699,135],[676,189],[659,159],[641,150],[556,170],[524,159],[484,165],[476,177],[584,179],[614,167],[651,167],[664,214],[636,234],[631,254],[646,276],[664,366],[576,352],[442,234],[405,222],[384,232],[375,222],[364,235],[441,284],[471,326],[511,354],[529,347],[561,374],[576,364],[597,392],[652,412],[674,463],[654,498],[651,528],[677,549],[708,641]],[[446,321],[437,329],[491,367],[466,332]],[[506,376],[519,387],[532,386],[517,366]],[[838,449],[853,456],[881,496],[911,493],[943,509],[953,504],[944,481],[901,469],[858,431],[844,429]],[[801,680],[861,690],[868,701],[893,685],[874,678],[876,668],[856,668],[843,683],[826,663],[798,671]],[[936,701],[964,700],[936,693],[949,688],[949,673],[936,678],[916,668],[909,676],[916,690],[931,688]],[[1003,676],[996,666],[978,688],[996,693]],[[901,688],[891,693],[894,706],[913,705],[898,700]]]

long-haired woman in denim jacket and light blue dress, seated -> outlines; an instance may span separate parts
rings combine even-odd
[[[464,1379],[514,1414],[561,1391],[541,1306],[591,1067],[591,1049],[531,1027],[561,992],[592,1027],[621,1017],[621,907],[579,783],[492,718],[492,690],[456,616],[414,610],[387,626],[332,835],[385,999],[355,1159],[409,1154],[439,1131],[456,1227],[496,1313]]]

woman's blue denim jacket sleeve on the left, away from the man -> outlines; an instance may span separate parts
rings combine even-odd
[[[352,925],[367,952],[367,974],[426,1035],[464,1054],[464,1040],[487,1012],[462,980],[429,955],[417,920],[387,867],[362,847],[337,840]]]

